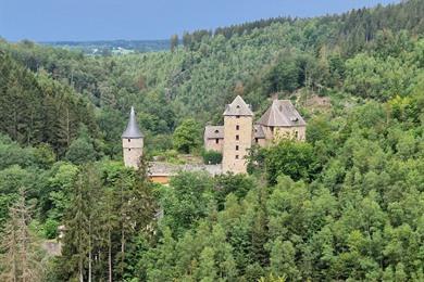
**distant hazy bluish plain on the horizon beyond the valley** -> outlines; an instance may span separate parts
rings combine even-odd
[[[127,54],[134,52],[154,52],[170,49],[170,40],[101,40],[101,41],[52,41],[45,46],[64,49],[78,49],[86,54]]]

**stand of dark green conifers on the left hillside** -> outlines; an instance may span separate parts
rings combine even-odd
[[[23,144],[49,143],[60,154],[79,124],[96,130],[92,108],[46,73],[34,75],[0,54],[0,130]]]

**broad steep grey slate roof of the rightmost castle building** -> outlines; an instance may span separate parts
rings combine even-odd
[[[264,126],[305,126],[303,118],[291,104],[290,100],[274,100],[273,104],[262,115],[258,124]]]

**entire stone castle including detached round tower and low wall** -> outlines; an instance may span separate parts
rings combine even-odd
[[[212,175],[221,172],[246,174],[246,156],[252,145],[265,146],[282,138],[305,139],[303,118],[289,100],[274,100],[262,117],[253,123],[253,112],[241,97],[226,105],[223,126],[204,128],[204,149],[222,153],[220,169],[211,165],[188,165],[171,167],[170,164],[151,164],[150,178],[155,182],[166,183],[172,175],[179,170],[207,170]],[[140,131],[134,107],[122,134],[124,164],[138,168],[144,150],[144,134]]]

